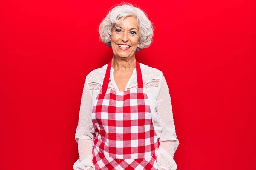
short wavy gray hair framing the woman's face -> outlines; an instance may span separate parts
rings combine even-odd
[[[100,40],[111,47],[112,28],[116,26],[119,18],[122,18],[123,21],[125,17],[129,16],[134,16],[137,18],[137,22],[140,28],[140,47],[137,48],[137,51],[147,48],[153,40],[152,37],[154,34],[154,26],[148,19],[147,14],[145,14],[140,8],[137,8],[130,3],[121,3],[109,11],[108,15],[99,25]]]

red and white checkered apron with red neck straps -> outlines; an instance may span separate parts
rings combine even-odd
[[[111,61],[102,90],[91,114],[94,127],[93,164],[96,170],[157,170],[159,146],[140,64],[136,62],[138,88],[107,89]]]

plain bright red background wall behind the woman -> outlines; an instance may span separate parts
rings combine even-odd
[[[0,2],[1,170],[72,170],[85,76],[112,57],[97,29],[119,2]],[[155,26],[136,56],[169,85],[178,170],[256,170],[255,1],[129,2]]]

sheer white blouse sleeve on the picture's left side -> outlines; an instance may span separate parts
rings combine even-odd
[[[85,81],[75,134],[75,140],[78,143],[79,159],[73,165],[74,170],[94,170],[92,162],[93,135],[90,133],[91,106],[92,93],[87,81]]]

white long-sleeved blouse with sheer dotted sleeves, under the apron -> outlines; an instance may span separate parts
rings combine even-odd
[[[107,64],[101,68],[91,71],[85,79],[81,105],[79,111],[79,121],[76,128],[75,140],[78,142],[79,159],[74,163],[74,170],[94,170],[92,162],[93,149],[93,127],[90,113],[93,103],[102,88]],[[160,146],[157,151],[158,169],[176,170],[177,164],[173,156],[179,145],[175,132],[175,125],[172,115],[171,98],[166,79],[162,71],[140,63],[143,77],[143,87],[146,89],[150,102],[150,109],[153,113],[152,121],[154,130],[159,138]],[[125,91],[137,87],[136,68],[129,79]],[[111,67],[110,82],[108,88],[119,91],[114,81],[114,68]]]

